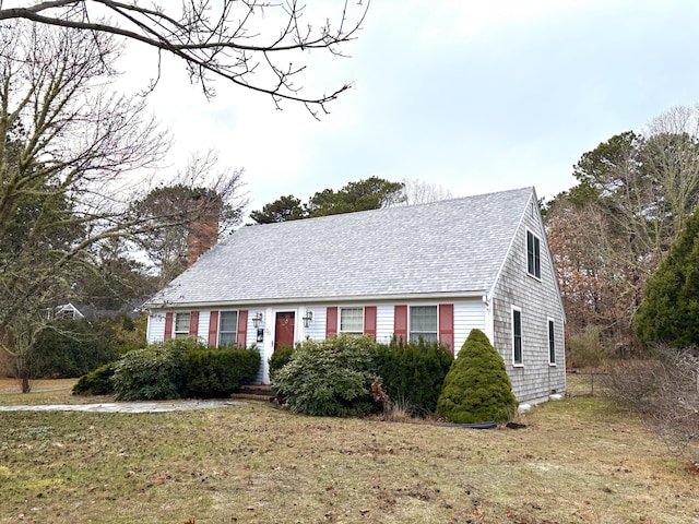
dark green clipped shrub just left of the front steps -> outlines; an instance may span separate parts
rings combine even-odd
[[[185,355],[187,391],[190,395],[222,398],[252,382],[260,371],[260,353],[237,347],[202,349]]]

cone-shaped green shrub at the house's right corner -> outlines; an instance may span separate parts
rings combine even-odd
[[[503,422],[516,410],[502,357],[481,330],[472,330],[445,378],[437,414],[457,424]]]

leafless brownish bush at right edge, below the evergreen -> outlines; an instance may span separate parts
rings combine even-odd
[[[673,453],[699,440],[699,354],[657,346],[643,360],[609,367],[613,401],[641,413]]]

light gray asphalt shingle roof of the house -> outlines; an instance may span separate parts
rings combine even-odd
[[[146,306],[488,291],[533,188],[242,227]]]

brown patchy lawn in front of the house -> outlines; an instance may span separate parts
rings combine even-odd
[[[0,394],[0,404],[15,396]],[[63,390],[61,403],[74,400]],[[574,397],[518,421],[526,428],[478,431],[311,418],[266,404],[0,412],[0,523],[699,519],[699,479],[688,461],[668,456],[635,417]]]

